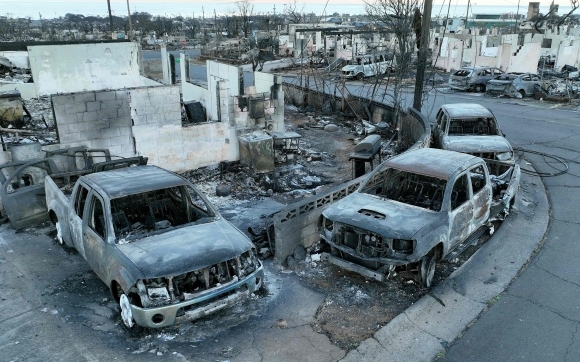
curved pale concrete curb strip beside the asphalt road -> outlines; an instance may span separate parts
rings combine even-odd
[[[522,167],[526,170],[534,171],[527,164]],[[530,260],[548,229],[549,211],[540,177],[522,172],[514,210],[487,243],[341,361],[432,361],[444,356],[445,348],[501,298]]]

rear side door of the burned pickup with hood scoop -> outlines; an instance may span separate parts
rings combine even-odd
[[[471,182],[472,199],[473,199],[473,220],[472,231],[485,224],[489,218],[491,208],[491,185],[487,167],[483,164],[471,167],[469,169],[469,180]]]

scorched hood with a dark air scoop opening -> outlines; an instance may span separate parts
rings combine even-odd
[[[367,216],[361,210],[376,213],[375,216],[384,215],[384,218]],[[434,211],[360,192],[331,205],[322,214],[334,222],[359,227],[387,238],[407,240],[438,215]]]

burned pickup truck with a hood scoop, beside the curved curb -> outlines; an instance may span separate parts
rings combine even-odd
[[[319,235],[331,247],[324,258],[378,280],[397,267],[416,269],[429,287],[439,259],[455,258],[487,230],[493,202],[480,157],[408,151],[322,213]]]

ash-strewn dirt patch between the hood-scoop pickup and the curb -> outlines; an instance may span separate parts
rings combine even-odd
[[[497,229],[499,225],[496,222],[494,226]],[[481,237],[477,244],[468,247],[455,260],[438,262],[434,285],[447,279],[469,260],[489,237],[487,234]],[[398,270],[391,278],[379,282],[321,261],[320,252],[328,248],[322,243],[308,251],[300,248],[297,247],[299,250],[292,256],[293,269],[301,282],[326,294],[311,326],[345,350],[354,349],[360,342],[372,337],[431,290],[416,279],[416,270],[412,267]]]

